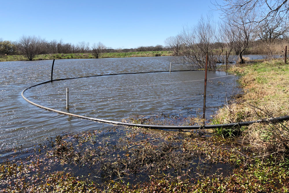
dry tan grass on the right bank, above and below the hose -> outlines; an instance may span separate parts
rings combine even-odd
[[[231,69],[240,78],[242,97],[219,110],[215,123],[252,121],[289,115],[289,66],[282,60],[265,61]],[[241,128],[242,142],[263,155],[289,153],[289,123],[253,124]]]

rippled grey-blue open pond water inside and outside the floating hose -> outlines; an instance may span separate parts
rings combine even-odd
[[[166,71],[171,57],[103,58],[55,60],[53,79],[112,73]],[[21,91],[50,80],[52,60],[1,62],[0,76],[0,154],[11,148],[31,148],[46,137],[93,130],[110,125],[45,111],[27,103]],[[172,70],[186,70],[172,65]],[[206,118],[225,104],[226,97],[238,91],[236,76],[208,72]],[[223,77],[227,76],[227,77]],[[135,115],[160,113],[202,114],[204,71],[100,76],[55,81],[25,92],[32,102],[66,111],[66,88],[70,89],[70,113],[121,121]]]

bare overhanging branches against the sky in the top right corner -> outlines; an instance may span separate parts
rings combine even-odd
[[[216,2],[214,5],[225,17],[253,12],[255,18],[249,22],[261,22],[264,19],[273,21],[276,17],[286,20],[289,13],[288,0],[223,0],[223,3]]]

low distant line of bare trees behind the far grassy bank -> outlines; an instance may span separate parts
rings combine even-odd
[[[89,42],[81,41],[77,44],[64,43],[59,41],[47,41],[45,38],[37,36],[22,36],[18,41],[3,41],[0,38],[0,55],[24,55],[32,60],[38,54],[76,54],[92,53],[95,58],[99,58],[102,53],[111,52],[146,52],[146,51],[169,51],[170,47],[162,45],[139,46],[137,48],[123,49],[107,47],[103,43],[94,43],[90,46]]]

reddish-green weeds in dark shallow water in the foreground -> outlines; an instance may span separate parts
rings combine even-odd
[[[238,138],[115,126],[47,138],[4,161],[0,192],[286,192],[280,163]]]

